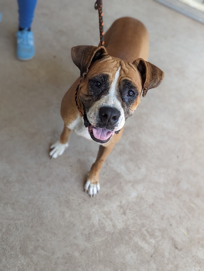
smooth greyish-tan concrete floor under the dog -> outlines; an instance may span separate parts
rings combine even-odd
[[[32,61],[15,58],[17,3],[0,10],[0,270],[204,270],[204,27],[154,1],[103,1],[105,30],[129,15],[147,26],[149,61],[165,72],[142,99],[83,192],[98,145],[63,127],[60,104],[79,75],[70,49],[97,45],[94,1],[39,1]]]

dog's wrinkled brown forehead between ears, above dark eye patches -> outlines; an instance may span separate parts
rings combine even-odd
[[[129,62],[112,58],[106,61],[97,61],[89,68],[87,79],[94,78],[95,76],[106,75],[108,81],[119,83],[121,80],[132,81],[139,89],[142,86],[142,80],[139,72]],[[142,90],[142,89],[141,89]]]

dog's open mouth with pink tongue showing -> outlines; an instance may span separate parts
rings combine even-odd
[[[88,126],[88,131],[91,138],[98,143],[108,142],[115,133],[114,131],[110,131],[106,128],[96,128],[93,125]]]

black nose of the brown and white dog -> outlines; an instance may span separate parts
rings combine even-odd
[[[104,106],[99,109],[99,117],[106,126],[113,125],[118,121],[120,111],[114,107]]]

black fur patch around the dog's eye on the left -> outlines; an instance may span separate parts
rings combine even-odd
[[[98,97],[98,95],[101,93],[106,95],[106,92],[108,92],[110,86],[109,75],[105,73],[97,74],[88,79],[89,95],[93,97],[96,95]]]

